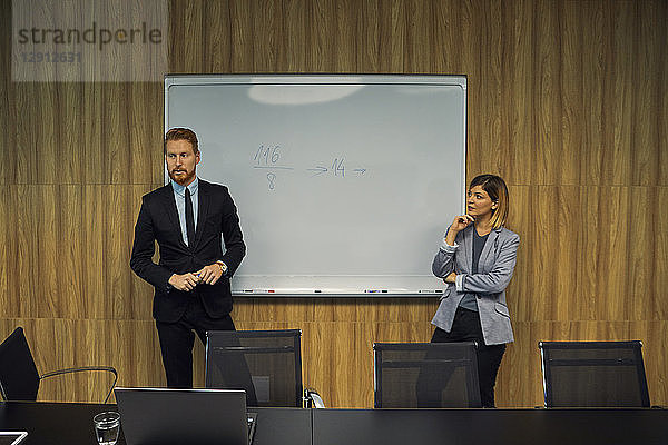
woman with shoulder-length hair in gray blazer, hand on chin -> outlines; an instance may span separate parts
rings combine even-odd
[[[513,340],[505,287],[515,266],[519,235],[503,227],[508,188],[481,175],[469,187],[466,214],[454,218],[432,270],[448,288],[432,324],[432,343],[478,342],[478,377],[483,407],[494,407],[494,384],[505,344]]]

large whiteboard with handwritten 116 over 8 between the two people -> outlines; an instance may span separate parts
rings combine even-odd
[[[443,291],[431,263],[464,206],[465,77],[167,76],[165,127],[197,134],[198,177],[235,200],[234,295]]]

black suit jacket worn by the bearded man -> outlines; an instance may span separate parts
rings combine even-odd
[[[191,247],[181,236],[171,184],[141,198],[130,267],[155,287],[153,315],[158,322],[178,320],[190,298],[200,298],[205,310],[214,318],[232,312],[229,277],[246,254],[239,218],[227,187],[202,179],[198,187],[197,229]],[[225,255],[220,237],[225,240]],[[155,241],[160,251],[158,264],[153,260]],[[173,274],[197,271],[217,260],[223,260],[228,270],[213,286],[200,284],[188,293],[168,284]]]

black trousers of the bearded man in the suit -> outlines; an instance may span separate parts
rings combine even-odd
[[[193,387],[193,346],[195,334],[206,346],[207,330],[235,330],[229,315],[212,318],[207,315],[197,295],[193,295],[183,317],[175,323],[156,320],[163,366],[169,388]],[[195,334],[193,333],[195,332]]]

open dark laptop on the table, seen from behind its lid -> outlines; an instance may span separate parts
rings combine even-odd
[[[249,445],[257,413],[238,389],[116,388],[128,445]]]

